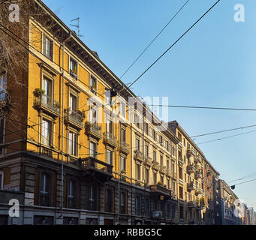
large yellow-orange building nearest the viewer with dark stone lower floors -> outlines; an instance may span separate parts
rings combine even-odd
[[[32,14],[24,33],[28,70],[17,76],[26,87],[1,71],[2,90],[20,97],[16,118],[1,120],[0,194],[23,194],[16,223],[179,223],[179,139],[42,1],[33,4],[44,21]],[[7,202],[0,215],[10,223]]]

